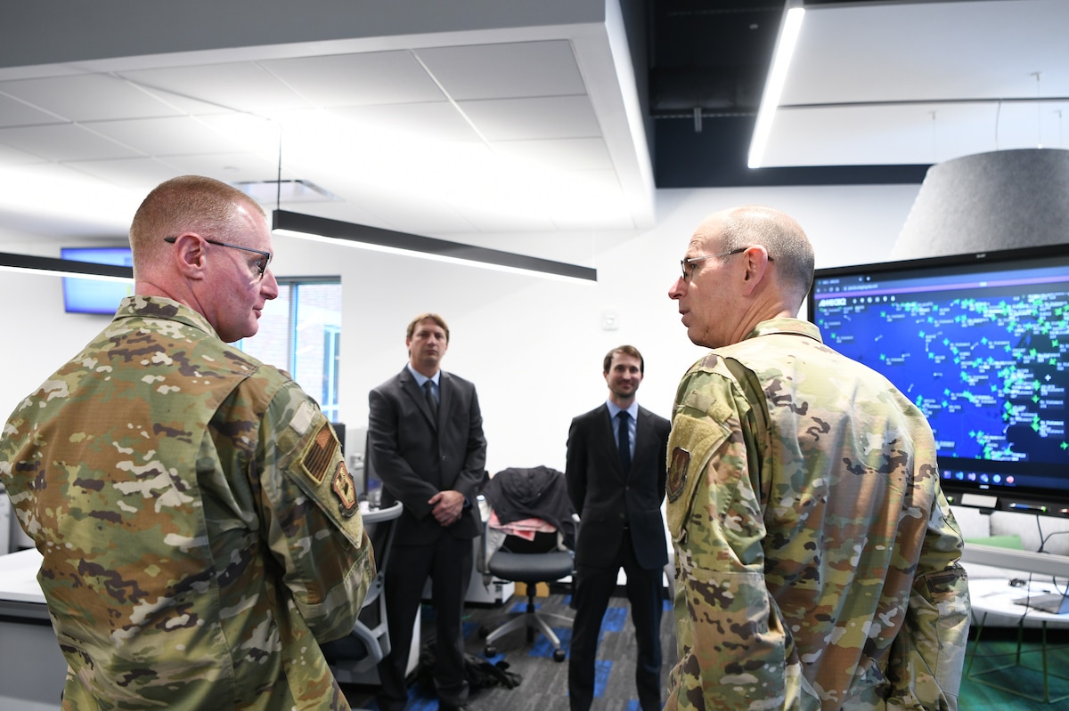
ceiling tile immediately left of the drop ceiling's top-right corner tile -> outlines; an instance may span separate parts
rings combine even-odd
[[[314,106],[445,100],[409,51],[300,57],[261,62]]]

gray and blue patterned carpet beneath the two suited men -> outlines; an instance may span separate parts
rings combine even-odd
[[[568,604],[571,598],[567,592],[553,590],[548,597],[538,598],[539,609],[569,617],[575,611]],[[479,711],[557,711],[568,709],[568,661],[555,662],[553,647],[542,635],[536,635],[533,643],[528,643],[523,630],[516,630],[496,641],[497,654],[486,658],[485,643],[479,628],[483,621],[490,620],[509,612],[513,607],[526,607],[526,598],[515,595],[505,605],[469,606],[465,610],[464,634],[466,649],[469,654],[497,664],[503,662],[507,672],[517,674],[521,682],[513,689],[501,685],[478,689],[471,695],[470,705]],[[433,634],[434,611],[424,605],[422,610],[422,631]],[[571,628],[557,628],[554,631],[560,637],[561,646],[567,651],[571,644]],[[424,641],[427,636],[423,637]],[[668,670],[676,663],[676,639],[672,632],[671,603],[665,601],[665,613],[661,622],[661,647],[664,659],[662,666],[662,688],[665,686]],[[638,711],[638,698],[635,692],[635,634],[631,626],[631,613],[625,597],[614,597],[602,622],[601,639],[598,645],[598,677],[594,688],[594,705],[592,711]],[[345,696],[354,709],[370,709],[377,711],[374,700],[375,689],[355,684],[343,685]],[[418,681],[409,686],[409,705],[412,711],[435,711],[438,701],[434,691]]]

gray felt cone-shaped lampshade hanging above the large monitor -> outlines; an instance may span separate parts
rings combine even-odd
[[[1069,242],[1069,151],[1021,148],[928,169],[895,259]]]

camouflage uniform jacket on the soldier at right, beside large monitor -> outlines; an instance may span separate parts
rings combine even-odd
[[[764,321],[692,366],[668,452],[666,709],[957,708],[961,535],[889,382],[810,323]]]

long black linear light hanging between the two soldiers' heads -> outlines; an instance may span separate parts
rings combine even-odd
[[[313,217],[300,212],[290,212],[289,210],[274,210],[272,212],[272,228],[277,235],[311,239],[329,244],[359,247],[378,252],[417,256],[498,271],[533,274],[548,279],[598,281],[598,270],[590,267]]]

